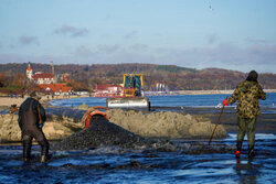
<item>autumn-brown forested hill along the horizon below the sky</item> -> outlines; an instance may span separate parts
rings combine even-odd
[[[2,75],[25,74],[28,64],[0,64]],[[31,64],[33,72],[51,73],[51,65]],[[184,89],[233,89],[246,78],[245,73],[221,68],[194,69],[176,65],[152,64],[94,64],[94,65],[54,65],[55,74],[67,73],[73,83],[94,89],[96,84],[120,84],[123,74],[144,74],[146,90],[164,84],[170,90]],[[256,69],[257,71],[257,69]],[[276,88],[276,74],[259,74],[259,83],[264,88]]]

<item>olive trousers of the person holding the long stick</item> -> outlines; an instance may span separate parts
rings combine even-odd
[[[242,150],[244,136],[247,132],[248,151],[253,151],[255,143],[256,120],[257,118],[241,118],[237,116],[237,150]]]

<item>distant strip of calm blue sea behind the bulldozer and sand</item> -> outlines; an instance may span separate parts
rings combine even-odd
[[[179,96],[149,96],[150,106],[153,108],[164,107],[193,107],[193,108],[210,108],[222,105],[223,99],[229,95],[179,95]],[[276,94],[267,94],[266,100],[259,100],[262,112],[276,113]],[[86,104],[89,107],[106,106],[106,98],[72,98],[51,101],[53,106],[77,107]],[[231,106],[234,110],[235,104]]]

